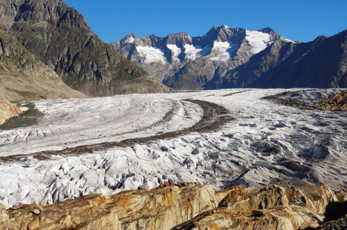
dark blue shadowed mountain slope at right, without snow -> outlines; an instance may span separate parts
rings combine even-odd
[[[248,63],[212,79],[206,88],[347,87],[346,71],[347,30],[309,43],[277,40]]]

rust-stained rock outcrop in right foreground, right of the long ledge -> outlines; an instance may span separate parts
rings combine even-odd
[[[278,183],[258,190],[235,187],[218,205],[174,229],[305,229],[325,220],[337,201],[326,185]]]

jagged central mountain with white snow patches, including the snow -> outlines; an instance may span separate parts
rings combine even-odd
[[[223,77],[277,39],[280,36],[270,28],[250,31],[223,25],[213,26],[204,36],[197,37],[172,33],[164,38],[136,38],[130,34],[111,43],[111,47],[167,86],[204,89],[213,77]]]

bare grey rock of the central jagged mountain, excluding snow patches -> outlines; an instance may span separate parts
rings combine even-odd
[[[276,40],[280,36],[272,29],[260,30],[270,35],[270,39]],[[187,33],[172,33],[164,38],[157,36],[145,36],[136,38],[134,34],[124,37],[122,40],[111,43],[113,50],[125,58],[134,61],[150,72],[159,81],[174,89],[205,89],[207,83],[213,77],[223,77],[229,70],[246,63],[252,53],[248,40],[245,39],[246,30],[241,28],[231,29],[228,26],[213,26],[204,36],[191,37]],[[130,40],[129,40],[130,39]],[[216,58],[218,52],[213,49],[214,43],[227,42],[232,48],[227,49],[230,59],[220,61]],[[176,45],[180,50],[177,59],[168,45]],[[191,45],[202,49],[200,57],[190,59],[186,54],[185,45]],[[163,62],[147,63],[140,55],[137,47],[154,47],[161,50],[165,58]]]

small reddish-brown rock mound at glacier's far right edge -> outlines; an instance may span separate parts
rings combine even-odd
[[[324,110],[347,111],[347,91],[340,91],[317,103]]]

